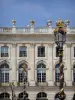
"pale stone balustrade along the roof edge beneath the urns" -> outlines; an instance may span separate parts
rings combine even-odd
[[[15,28],[15,32],[13,32],[13,28]],[[7,34],[7,33],[15,33],[15,34],[30,34],[30,33],[35,33],[35,34],[53,34],[53,31],[54,31],[55,28],[51,28],[51,33],[48,31],[49,28],[48,27],[36,27],[36,28],[33,28],[33,32],[31,32],[31,27],[0,27],[0,34],[1,33],[4,33],[4,34]],[[72,33],[74,34],[75,33],[75,28],[69,28],[69,33]]]

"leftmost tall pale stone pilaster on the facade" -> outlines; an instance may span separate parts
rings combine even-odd
[[[14,85],[17,85],[17,50],[16,50],[16,44],[12,44],[12,50],[11,50],[11,66],[12,66],[12,82],[14,82]]]

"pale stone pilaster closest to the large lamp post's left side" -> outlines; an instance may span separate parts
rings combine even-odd
[[[53,62],[53,46],[52,44],[49,44],[48,45],[48,68],[49,70],[47,71],[47,80],[48,80],[48,85],[49,86],[53,86],[54,83],[53,83],[53,65],[52,65],[52,62]]]

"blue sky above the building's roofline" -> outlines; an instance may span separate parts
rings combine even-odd
[[[75,26],[75,0],[0,0],[0,26],[27,26],[34,19],[36,26],[46,26],[52,20],[53,26],[58,18],[69,19]]]

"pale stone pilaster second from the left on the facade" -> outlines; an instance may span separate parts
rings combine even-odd
[[[30,85],[35,86],[35,44],[30,44],[29,49],[29,63],[30,63]]]

